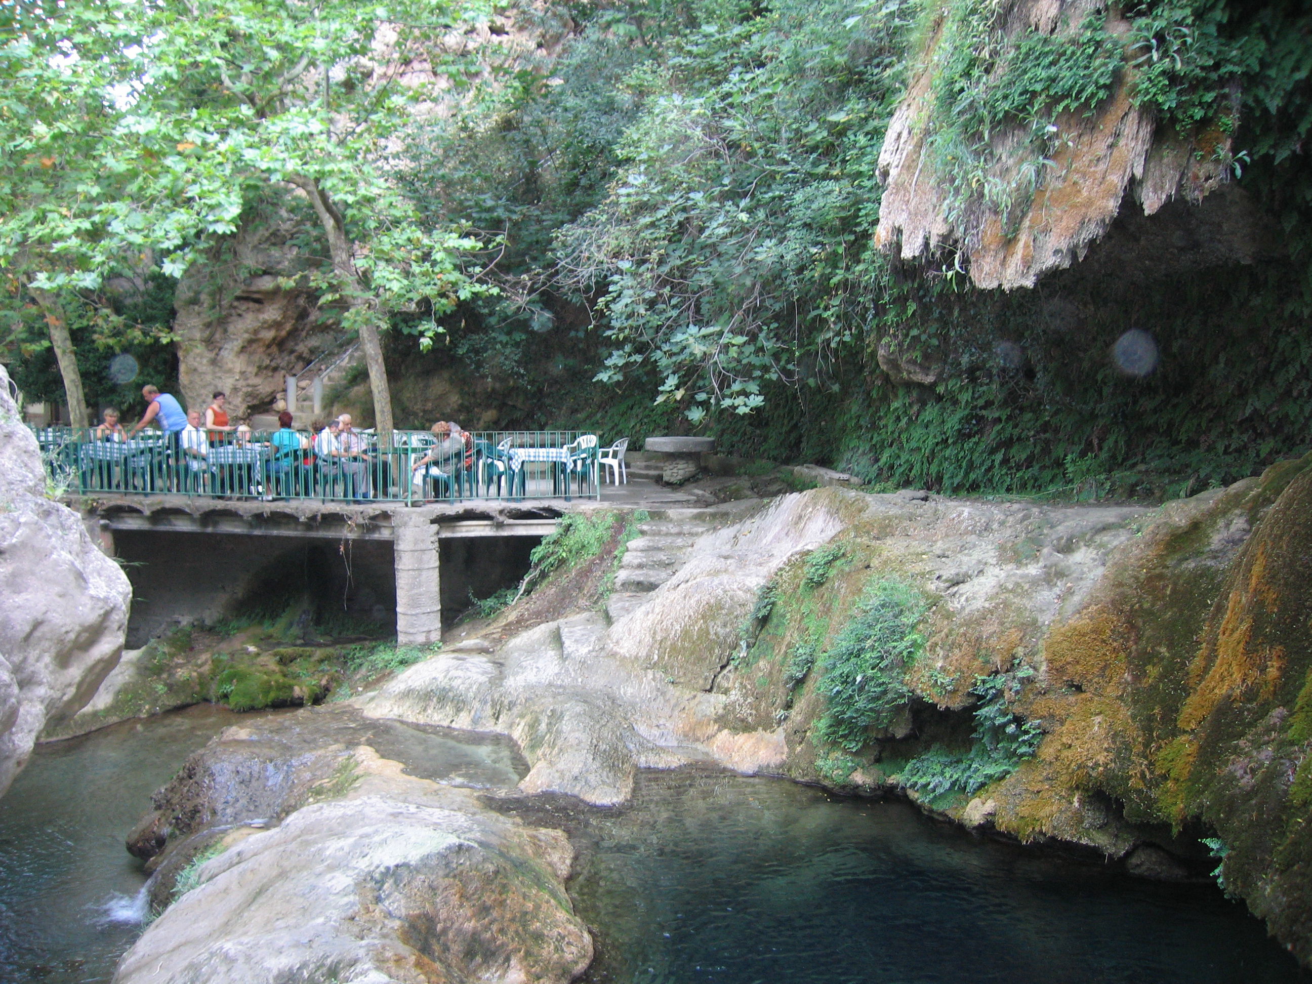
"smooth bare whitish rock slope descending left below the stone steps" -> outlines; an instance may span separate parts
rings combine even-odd
[[[443,652],[361,703],[371,716],[510,735],[531,765],[522,790],[602,806],[627,800],[640,768],[714,756],[747,773],[778,771],[782,733],[720,735],[715,715],[726,698],[707,691],[739,646],[756,589],[840,525],[823,501],[803,496],[719,533],[708,525],[682,569],[614,625],[586,613],[533,628],[496,653]],[[689,651],[697,657],[686,659]]]

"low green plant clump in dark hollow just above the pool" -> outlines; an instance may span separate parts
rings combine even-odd
[[[1030,674],[976,677],[971,693],[980,702],[970,749],[953,752],[935,745],[907,764],[901,783],[930,798],[950,792],[972,795],[1005,779],[1033,757],[1043,740],[1043,728],[1039,722],[1022,720],[1006,702],[1008,689],[1018,687],[1025,676]]]

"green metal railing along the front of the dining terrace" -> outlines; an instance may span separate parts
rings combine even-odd
[[[396,430],[224,433],[35,432],[51,480],[70,495],[182,495],[421,505],[493,499],[600,499],[598,441],[575,430],[483,430],[438,441]]]

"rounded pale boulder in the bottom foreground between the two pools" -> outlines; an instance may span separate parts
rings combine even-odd
[[[299,729],[283,750],[314,723]],[[244,745],[265,770],[247,768]],[[405,775],[367,745],[328,740],[312,762],[277,747],[260,726],[230,728],[171,783],[171,802],[189,798],[222,853],[125,954],[115,984],[565,984],[588,966],[559,830]],[[298,791],[266,802],[268,777],[293,774],[276,785]]]

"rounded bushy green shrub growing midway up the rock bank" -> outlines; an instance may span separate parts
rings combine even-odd
[[[880,579],[867,589],[821,659],[819,689],[829,705],[816,726],[821,740],[855,752],[871,727],[892,722],[911,698],[905,676],[925,644],[916,631],[925,609],[921,594],[901,581]]]

